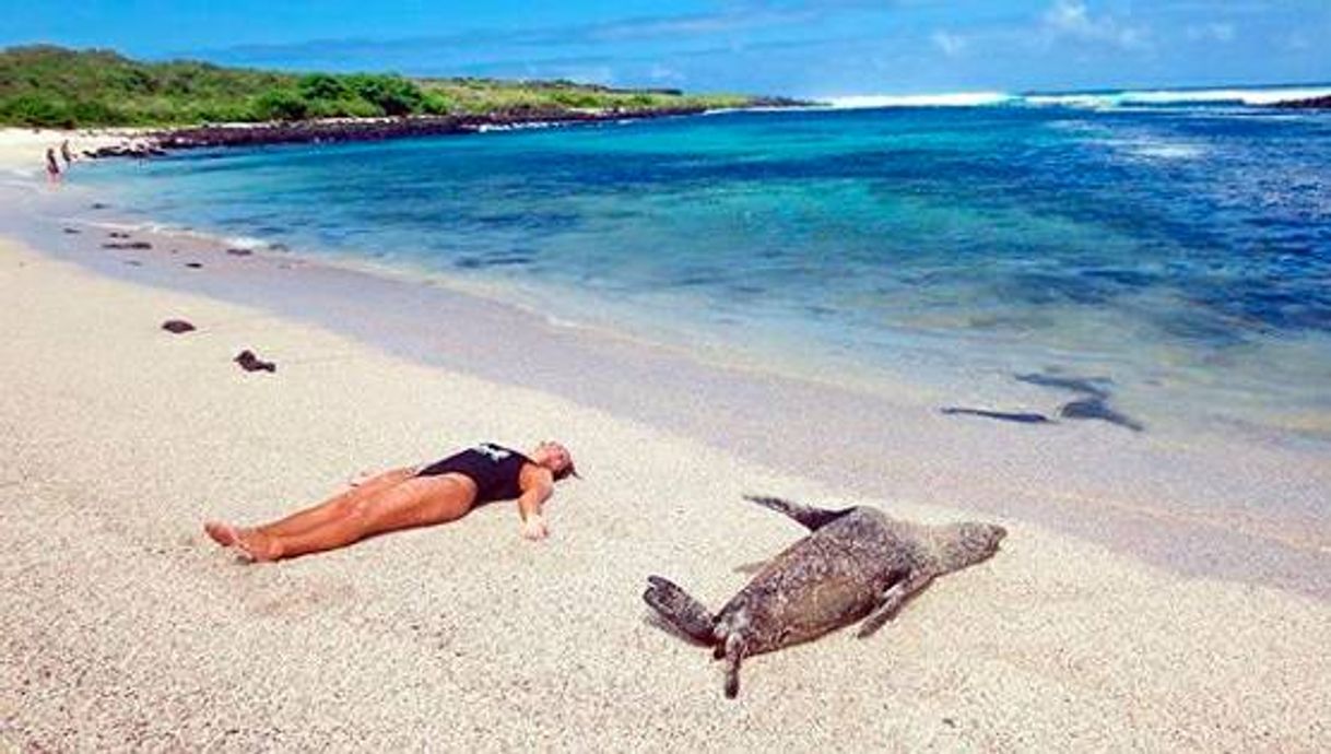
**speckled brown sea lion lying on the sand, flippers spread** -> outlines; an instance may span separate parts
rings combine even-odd
[[[882,628],[930,581],[989,559],[1008,535],[994,524],[930,527],[877,508],[824,511],[776,497],[748,500],[784,513],[812,533],[772,559],[715,616],[659,576],[647,601],[675,629],[725,660],[725,695],[739,694],[740,662],[817,638],[864,618],[860,637]]]

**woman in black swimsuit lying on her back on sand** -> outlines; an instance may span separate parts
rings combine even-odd
[[[433,464],[353,483],[351,489],[272,524],[238,528],[209,521],[204,531],[246,560],[281,560],[383,532],[443,524],[476,505],[516,497],[522,536],[539,540],[550,533],[540,505],[555,491],[555,481],[572,473],[572,456],[559,443],[540,443],[530,456],[482,443]]]

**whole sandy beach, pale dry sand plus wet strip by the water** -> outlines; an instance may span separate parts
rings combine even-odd
[[[101,249],[104,230],[80,230],[0,233],[5,743],[1311,751],[1331,738],[1314,456],[881,402],[865,416],[827,386],[419,283],[138,231],[116,241],[150,249]],[[160,330],[172,318],[198,330]],[[241,348],[278,371],[242,372]],[[520,541],[504,504],[278,566],[237,566],[198,529],[313,501],[359,468],[547,435],[587,479],[560,487],[543,545]],[[652,624],[639,593],[668,573],[719,608],[745,564],[800,536],[744,492],[1010,535],[873,640],[839,632],[753,658],[727,702],[719,669]],[[1303,517],[1272,520],[1263,495],[1304,500]],[[1161,497],[1177,507],[1150,505]],[[1191,565],[1130,539],[1150,536]]]

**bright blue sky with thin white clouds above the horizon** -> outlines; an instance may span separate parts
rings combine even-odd
[[[0,0],[0,45],[797,96],[1331,81],[1331,0]]]

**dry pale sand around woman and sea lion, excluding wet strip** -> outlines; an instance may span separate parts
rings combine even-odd
[[[870,497],[15,239],[0,301],[0,750],[1331,747],[1331,604],[977,512],[978,477],[946,481],[953,507],[917,484]],[[278,371],[242,372],[242,348]],[[586,479],[560,484],[544,543],[506,503],[276,565],[201,531],[362,468],[547,438]],[[748,660],[728,701],[640,593],[663,574],[720,608],[801,536],[745,492],[1009,536],[869,640]]]

